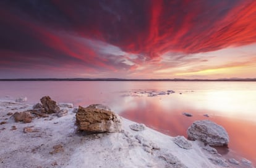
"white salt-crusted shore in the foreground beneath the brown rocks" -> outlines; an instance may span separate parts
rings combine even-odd
[[[212,162],[222,157],[203,149],[200,141],[190,141],[192,148],[184,149],[174,137],[148,127],[139,132],[130,129],[135,122],[124,118],[120,133],[88,134],[77,131],[74,108],[66,108],[66,116],[51,114],[28,124],[7,115],[32,106],[0,101],[0,167],[223,167]],[[33,131],[24,133],[24,127]],[[157,147],[147,150],[150,144]],[[171,163],[168,157],[173,156],[180,164]]]

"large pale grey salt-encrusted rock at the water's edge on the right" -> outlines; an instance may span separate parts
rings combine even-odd
[[[221,125],[210,120],[197,120],[187,129],[189,140],[200,140],[208,145],[228,145],[229,136]]]

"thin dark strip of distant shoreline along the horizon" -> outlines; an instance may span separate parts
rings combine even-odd
[[[256,78],[228,78],[228,79],[124,79],[124,78],[5,78],[0,81],[121,81],[121,82],[256,82]]]

